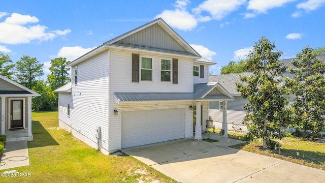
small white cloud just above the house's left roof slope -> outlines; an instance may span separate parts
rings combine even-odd
[[[74,47],[68,47],[64,46],[62,47],[57,55],[55,57],[64,57],[67,58],[67,60],[73,61],[76,58],[79,58],[80,56],[84,55],[85,53],[91,51],[93,48],[82,48],[81,46],[74,46]]]

